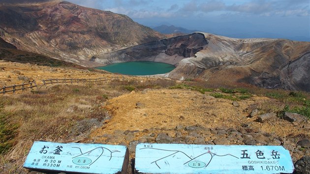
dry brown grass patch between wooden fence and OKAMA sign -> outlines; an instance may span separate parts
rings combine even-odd
[[[17,132],[0,166],[15,161],[12,171],[20,168],[34,141],[67,142],[87,134],[93,122],[99,125],[109,116],[102,109],[106,99],[120,94],[102,85],[55,85],[40,92],[1,95],[1,113]]]

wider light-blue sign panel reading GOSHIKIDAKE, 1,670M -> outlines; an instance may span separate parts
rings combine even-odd
[[[147,174],[293,173],[282,146],[138,144],[135,170]]]

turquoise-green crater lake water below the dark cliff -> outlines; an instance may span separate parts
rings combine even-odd
[[[154,75],[164,74],[172,71],[175,66],[168,63],[154,62],[154,61],[128,61],[121,63],[113,63],[106,66],[96,67],[112,73],[119,73],[124,75]]]

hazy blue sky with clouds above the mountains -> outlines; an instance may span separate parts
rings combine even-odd
[[[125,14],[148,26],[174,25],[235,38],[310,41],[310,0],[66,0]]]

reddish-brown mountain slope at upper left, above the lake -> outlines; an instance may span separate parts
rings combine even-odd
[[[164,37],[125,15],[59,0],[0,5],[0,36],[20,50],[85,66],[96,54]]]

